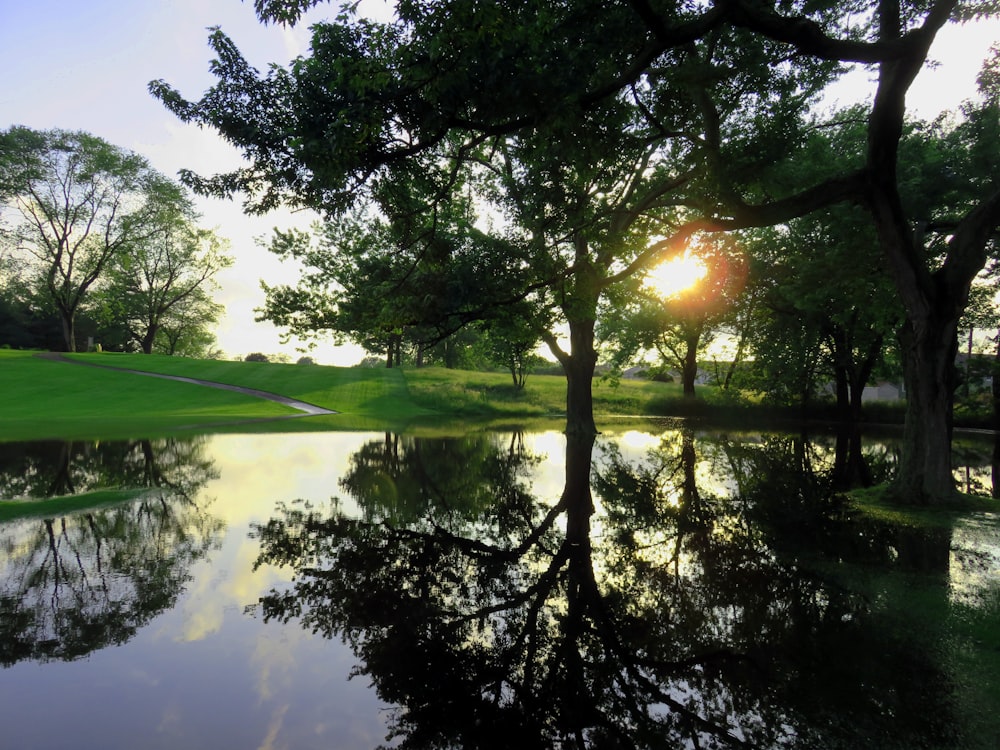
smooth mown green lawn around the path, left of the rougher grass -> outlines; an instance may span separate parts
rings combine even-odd
[[[376,418],[422,413],[398,371],[219,362],[156,355],[80,354],[73,358],[271,391],[334,409],[334,417],[292,420],[300,412],[232,391],[0,351],[0,440],[112,438],[233,429],[357,429]],[[336,419],[335,422],[331,421]],[[282,421],[275,421],[282,420]],[[309,422],[306,426],[304,423]]]

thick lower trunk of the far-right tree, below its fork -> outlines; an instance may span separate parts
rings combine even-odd
[[[958,318],[912,316],[903,325],[903,381],[906,423],[895,493],[913,504],[947,502],[954,497],[951,469],[952,404]]]

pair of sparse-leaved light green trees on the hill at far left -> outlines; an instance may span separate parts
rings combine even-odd
[[[196,226],[188,192],[145,158],[89,133],[15,126],[0,133],[0,186],[10,225],[0,288],[19,329],[4,343],[48,347],[51,315],[75,351],[86,313],[90,336],[148,353],[161,332],[200,338],[218,318],[208,291],[231,263],[223,241]]]

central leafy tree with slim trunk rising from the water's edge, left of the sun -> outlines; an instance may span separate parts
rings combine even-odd
[[[593,328],[601,295],[676,252],[700,227],[685,223],[680,208],[704,208],[706,190],[713,201],[724,197],[706,165],[724,163],[743,182],[759,184],[766,166],[798,137],[804,103],[832,66],[822,61],[785,66],[774,75],[770,66],[779,63],[778,50],[739,29],[719,28],[702,43],[698,38],[705,28],[692,27],[686,46],[661,46],[656,55],[663,55],[664,67],[622,97],[553,108],[553,100],[562,101],[581,81],[604,85],[631,66],[633,56],[644,56],[646,33],[641,18],[617,9],[606,19],[612,33],[595,39],[600,49],[580,47],[573,40],[592,27],[596,7],[581,3],[553,13],[545,4],[536,10],[537,15],[508,19],[493,6],[455,3],[425,13],[402,5],[399,25],[341,19],[316,27],[312,57],[264,78],[216,32],[212,44],[220,56],[221,82],[200,102],[183,100],[163,82],[152,88],[181,117],[217,127],[247,149],[252,170],[186,177],[206,192],[247,190],[252,210],[289,200],[336,215],[371,198],[398,213],[400,207],[388,205],[385,197],[398,200],[399,186],[415,184],[418,176],[424,182],[422,200],[410,204],[436,210],[455,196],[456,186],[465,189],[469,173],[485,175],[478,197],[490,200],[516,228],[510,244],[531,251],[532,275],[509,296],[516,300],[547,290],[549,304],[570,328],[569,351],[551,331],[542,332],[567,376],[567,429],[593,432]],[[442,25],[452,39],[447,48],[434,41],[441,38]],[[484,28],[489,35],[477,31]],[[493,33],[498,29],[504,33]],[[544,44],[526,49],[523,40],[534,35]],[[604,58],[610,62],[593,64]],[[544,90],[525,98],[517,93],[521,82],[509,90],[496,88],[511,86],[519,76]],[[365,83],[357,89],[362,78],[374,88]],[[427,80],[435,85],[426,87]],[[379,87],[384,89],[375,93]],[[489,95],[483,96],[486,90]],[[747,90],[762,95],[750,99],[742,95]],[[425,94],[434,101],[417,104]],[[258,138],[263,135],[258,131],[248,138],[247,128],[235,126],[232,113],[247,100],[273,114],[251,118],[254,128],[265,121],[276,126],[266,137]],[[523,103],[532,111],[520,117],[510,108]],[[484,117],[508,116],[519,125],[479,127]],[[337,128],[343,132],[334,133]],[[723,148],[724,135],[748,129],[767,147],[753,150],[734,142]],[[486,132],[491,130],[502,137],[491,138]],[[675,197],[682,188],[684,194]],[[669,236],[647,246],[655,222]],[[514,268],[515,262],[501,256],[491,270]]]

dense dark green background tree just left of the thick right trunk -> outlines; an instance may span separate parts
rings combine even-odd
[[[861,421],[862,393],[901,318],[858,213],[831,207],[747,241],[766,284],[752,333],[762,390],[805,405],[832,381],[845,423]]]

